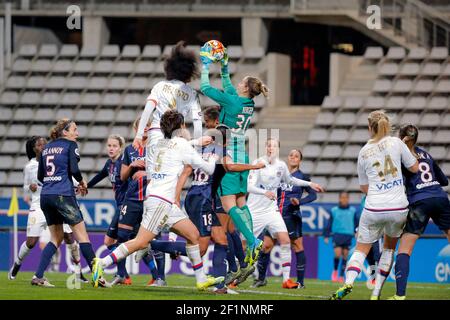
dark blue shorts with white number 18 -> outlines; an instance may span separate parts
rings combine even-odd
[[[186,195],[184,207],[201,237],[210,237],[211,228],[220,227],[213,202],[210,188],[193,188]]]

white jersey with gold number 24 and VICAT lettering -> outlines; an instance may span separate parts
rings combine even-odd
[[[416,158],[399,138],[368,142],[358,156],[359,184],[369,185],[365,207],[376,211],[406,208],[401,166],[410,168],[415,162]]]

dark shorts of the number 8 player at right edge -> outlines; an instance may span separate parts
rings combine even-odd
[[[440,230],[450,229],[450,202],[447,198],[428,198],[412,203],[404,232],[423,234],[430,218]]]

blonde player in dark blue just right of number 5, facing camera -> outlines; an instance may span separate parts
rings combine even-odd
[[[122,151],[125,147],[125,139],[120,135],[110,135],[106,142],[106,148],[108,152],[109,159],[106,160],[105,165],[102,170],[97,173],[89,182],[88,189],[94,187],[100,181],[109,178],[111,182],[112,189],[114,192],[114,198],[116,200],[116,212],[114,217],[109,224],[108,231],[106,232],[104,244],[105,246],[112,252],[117,247],[117,231],[120,217],[120,210],[122,208],[123,200],[125,198],[125,193],[128,189],[128,181],[123,182],[120,179],[120,170],[122,168]],[[126,261],[121,261],[117,264],[117,274],[121,276],[121,278],[129,279],[127,270],[126,270]]]

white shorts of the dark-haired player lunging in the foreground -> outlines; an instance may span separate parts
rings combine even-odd
[[[176,205],[156,197],[144,201],[144,214],[141,227],[157,235],[168,226],[172,228],[177,222],[188,219],[187,215]]]

